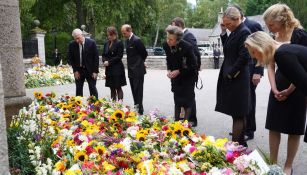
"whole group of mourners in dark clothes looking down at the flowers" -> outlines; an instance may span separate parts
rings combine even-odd
[[[238,5],[230,5],[222,16],[221,40],[224,61],[217,83],[215,110],[233,119],[232,140],[247,146],[256,131],[256,87],[267,65],[271,85],[265,128],[269,130],[270,159],[277,162],[281,133],[288,134],[287,159],[284,172],[292,174],[300,136],[305,132],[307,95],[307,32],[286,4],[275,4],[263,14],[271,35],[262,31],[256,21],[244,17]],[[201,54],[195,36],[176,17],[166,29],[167,77],[174,94],[174,120],[188,120],[197,126],[195,84],[201,67]],[[128,78],[135,108],[143,114],[143,84],[147,51],[128,24],[121,27],[124,44],[115,27],[107,28],[102,61],[105,86],[114,101],[123,100],[122,86],[127,84],[122,62],[124,45],[127,52]],[[96,80],[99,68],[95,42],[84,38],[80,29],[72,32],[69,61],[72,65],[76,95],[83,96],[87,80],[90,95],[98,97]],[[183,114],[183,115],[182,115]],[[307,133],[304,141],[307,142]]]

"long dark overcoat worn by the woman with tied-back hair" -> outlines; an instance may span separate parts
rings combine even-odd
[[[215,110],[234,117],[244,117],[250,110],[250,56],[244,46],[249,29],[241,23],[229,36],[221,36],[224,62],[217,83]]]

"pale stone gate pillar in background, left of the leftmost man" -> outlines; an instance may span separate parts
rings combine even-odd
[[[35,33],[32,34],[32,38],[37,39],[37,45],[38,45],[38,57],[41,60],[41,64],[46,64],[46,54],[45,54],[45,35],[46,32],[43,30],[32,30],[35,31]]]

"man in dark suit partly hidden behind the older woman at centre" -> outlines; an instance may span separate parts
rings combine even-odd
[[[180,17],[176,17],[172,20],[172,25],[177,26],[182,29],[183,37],[182,39],[186,42],[190,43],[193,46],[194,55],[197,58],[197,66],[198,70],[200,70],[201,66],[201,55],[198,50],[197,40],[193,33],[191,33],[187,28],[185,28],[184,20]],[[192,105],[191,117],[188,119],[191,122],[192,126],[197,126],[197,116],[196,116],[196,100],[194,99],[194,104]]]

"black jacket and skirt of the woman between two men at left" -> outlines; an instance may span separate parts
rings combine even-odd
[[[125,67],[122,62],[124,53],[124,45],[122,41],[115,40],[110,47],[110,42],[104,44],[102,52],[102,61],[108,61],[109,66],[106,67],[106,87],[119,88],[127,85],[125,76]]]

